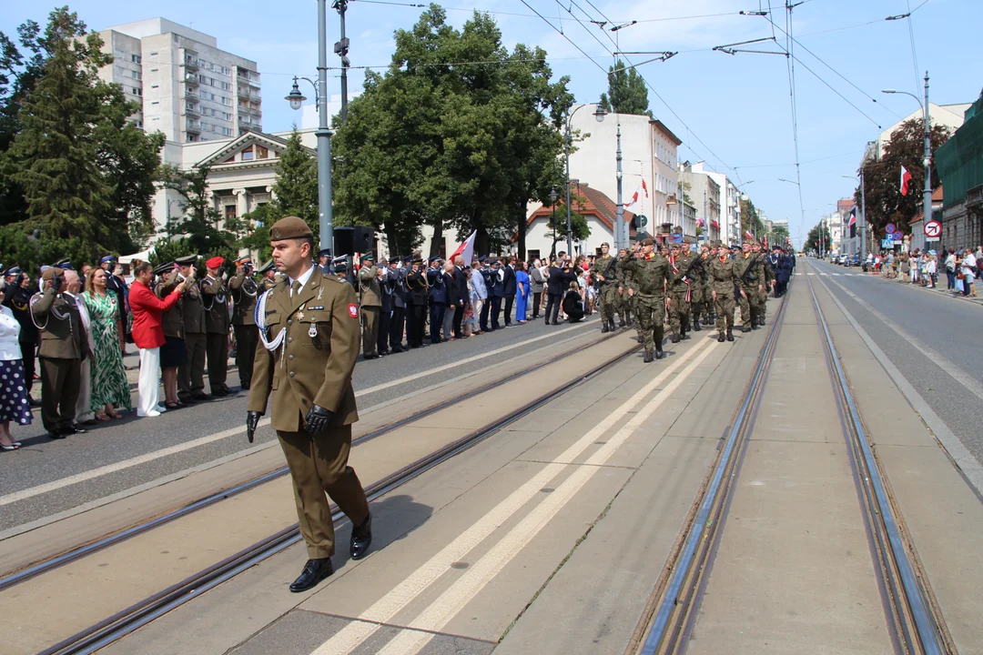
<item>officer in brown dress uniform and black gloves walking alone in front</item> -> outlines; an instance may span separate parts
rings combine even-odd
[[[314,237],[296,216],[269,230],[273,260],[284,274],[257,310],[260,346],[246,418],[252,442],[271,399],[270,425],[294,483],[308,562],[290,585],[299,592],[331,573],[334,526],[325,493],[352,521],[353,560],[372,543],[372,515],[355,469],[348,465],[352,423],[358,420],[352,371],[359,356],[355,290],[312,261]]]

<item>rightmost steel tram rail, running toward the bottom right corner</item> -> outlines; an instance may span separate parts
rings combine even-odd
[[[895,596],[898,601],[906,604],[906,607],[897,608],[897,610],[901,615],[906,615],[906,611],[910,612],[918,638],[918,646],[920,646],[922,652],[924,652],[926,655],[943,655],[943,653],[946,652],[946,649],[942,645],[942,637],[938,624],[929,610],[929,603],[926,600],[925,591],[922,588],[918,575],[914,572],[914,567],[911,564],[910,557],[904,547],[904,542],[901,539],[900,530],[898,529],[897,520],[895,518],[894,507],[890,498],[888,497],[884,479],[881,476],[880,466],[876,457],[874,456],[873,449],[870,445],[870,439],[867,437],[867,432],[864,429],[863,421],[860,418],[860,412],[857,409],[856,401],[853,398],[853,393],[850,391],[849,383],[846,380],[846,374],[844,373],[842,364],[839,361],[837,347],[833,342],[833,335],[830,333],[829,324],[827,323],[826,316],[819,305],[819,299],[816,296],[816,291],[811,282],[809,284],[809,293],[812,295],[816,315],[819,319],[819,324],[823,329],[826,347],[829,349],[829,353],[831,355],[830,363],[832,364],[833,372],[836,373],[835,377],[837,382],[837,391],[846,404],[847,414],[849,417],[849,427],[853,432],[853,434],[850,436],[855,439],[855,443],[859,447],[860,454],[862,456],[861,464],[863,464],[865,470],[865,479],[863,480],[864,487],[865,490],[873,494],[873,498],[876,502],[876,507],[874,508],[875,517],[880,526],[884,529],[884,532],[887,534],[888,543],[886,545],[888,546],[888,552],[890,554],[892,564],[896,567],[897,573],[900,577],[901,591],[903,593],[901,596],[899,596],[896,591],[894,591],[893,596]],[[890,573],[890,571],[886,573]],[[895,588],[896,580],[889,578],[888,582],[891,583],[893,588]],[[907,630],[907,626],[902,625],[902,628],[904,628],[905,640],[909,643],[909,645],[914,645],[911,643],[911,635]]]

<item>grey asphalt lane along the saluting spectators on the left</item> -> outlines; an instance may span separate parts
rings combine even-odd
[[[468,373],[480,374],[483,369],[504,359],[552,347],[598,329],[597,316],[577,325],[547,326],[542,320],[536,320],[481,337],[427,346],[372,361],[360,360],[353,377],[356,393],[360,394],[359,408],[376,407]],[[398,383],[389,384],[393,381]],[[230,371],[228,382],[230,385],[238,382],[235,372]],[[32,425],[14,430],[23,447],[0,455],[0,469],[3,470],[0,475],[0,531],[66,512],[275,440],[268,426],[258,430],[255,444],[249,444],[241,432],[221,435],[231,428],[242,428],[245,415],[246,393],[239,393],[171,410],[156,418],[137,418],[130,412],[123,419],[100,423],[87,434],[52,441],[46,436],[40,416],[35,412]],[[202,438],[211,439],[202,445],[181,448]],[[160,452],[168,448],[180,452]],[[114,469],[116,464],[141,457],[146,461]],[[57,485],[70,476],[104,466],[110,470],[92,479],[51,490],[42,486]]]

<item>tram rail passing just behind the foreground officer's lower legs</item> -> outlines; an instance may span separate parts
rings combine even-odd
[[[601,343],[600,340],[598,343]],[[549,402],[569,392],[584,382],[594,378],[607,368],[636,353],[641,346],[634,346],[621,355],[614,355],[607,361],[595,366],[589,371],[578,375],[572,380],[564,383],[560,387],[543,394],[535,400],[514,409],[505,415],[495,419],[491,423],[478,428],[477,430],[461,437],[460,439],[437,449],[430,455],[408,464],[399,470],[390,473],[382,479],[376,481],[366,489],[366,495],[370,502],[375,501],[381,496],[391,492],[403,484],[423,475],[438,464],[453,458],[460,453],[480,444],[493,434],[500,431],[515,421],[530,414],[536,409],[542,408]],[[580,352],[580,351],[576,351]],[[344,515],[332,505],[332,519],[338,521]],[[125,637],[127,634],[144,627],[154,619],[170,612],[171,610],[184,605],[202,595],[202,593],[234,577],[235,575],[250,569],[260,562],[281,552],[287,547],[299,543],[302,537],[298,531],[298,523],[294,523],[256,544],[232,555],[231,557],[214,564],[199,573],[195,573],[186,579],[173,584],[166,589],[145,598],[145,600],[132,605],[131,607],[116,613],[94,626],[86,628],[67,639],[64,639],[49,648],[41,651],[39,655],[87,655],[100,648]]]

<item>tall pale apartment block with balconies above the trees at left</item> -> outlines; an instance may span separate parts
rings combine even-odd
[[[218,49],[214,36],[162,18],[99,35],[114,57],[99,77],[142,106],[133,121],[147,132],[188,143],[261,131],[256,62]]]

